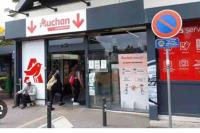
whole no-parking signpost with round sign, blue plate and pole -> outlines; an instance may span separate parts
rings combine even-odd
[[[168,93],[168,113],[169,127],[172,128],[171,109],[171,84],[170,84],[170,48],[179,47],[180,41],[176,36],[182,28],[181,16],[173,10],[162,10],[158,12],[151,23],[154,34],[162,39],[156,39],[156,48],[166,49],[166,69],[167,69],[167,93]]]

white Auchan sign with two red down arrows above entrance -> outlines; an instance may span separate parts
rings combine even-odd
[[[26,19],[26,36],[85,31],[86,10]]]

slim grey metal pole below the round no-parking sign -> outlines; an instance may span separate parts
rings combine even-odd
[[[171,109],[171,86],[170,86],[170,51],[166,49],[166,67],[167,67],[167,96],[168,96],[168,113],[169,128],[172,128],[172,109]]]

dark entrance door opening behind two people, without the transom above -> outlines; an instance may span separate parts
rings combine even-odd
[[[65,53],[65,54],[52,54],[51,55],[51,70],[59,70],[61,77],[61,82],[63,84],[63,101],[66,103],[72,103],[73,98],[73,88],[69,83],[70,75],[74,70],[75,66],[78,66],[78,71],[80,71],[82,77],[85,73],[84,64],[84,52],[76,51]],[[83,78],[84,83],[84,78]],[[78,102],[81,105],[85,105],[85,88],[80,88],[80,93],[78,97]]]

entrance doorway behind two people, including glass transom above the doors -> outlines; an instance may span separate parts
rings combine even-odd
[[[69,84],[69,78],[75,66],[80,71],[85,80],[85,49],[83,38],[55,39],[49,40],[49,65],[48,72],[51,70],[59,70],[61,82],[63,84],[63,101],[72,104],[74,97],[72,86]],[[84,84],[85,85],[85,84]],[[83,86],[84,86],[83,85]],[[85,105],[85,87],[80,89],[78,102]]]

